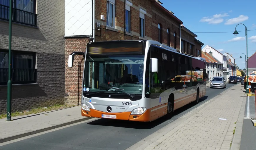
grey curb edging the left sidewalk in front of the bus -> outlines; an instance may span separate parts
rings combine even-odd
[[[14,135],[14,136],[6,137],[6,138],[3,138],[3,139],[0,139],[0,143],[8,142],[8,141],[11,141],[11,140],[14,140],[14,139],[19,139],[21,137],[26,137],[26,136],[34,135],[34,134],[37,134],[37,133],[40,133],[40,132],[56,129],[58,127],[63,127],[63,126],[71,125],[71,124],[74,124],[74,123],[79,123],[79,122],[89,120],[89,119],[92,119],[92,118],[94,118],[94,117],[87,117],[87,118],[82,118],[82,119],[78,119],[78,120],[73,120],[73,121],[70,121],[70,122],[67,122],[67,123],[62,123],[62,124],[59,124],[59,125],[53,125],[51,127],[38,129],[38,130],[35,130],[35,131],[22,133],[20,135]]]

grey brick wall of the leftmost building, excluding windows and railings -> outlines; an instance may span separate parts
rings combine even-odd
[[[12,111],[64,104],[64,1],[37,1],[38,27],[12,23],[12,50],[37,52],[37,84],[12,86]],[[0,49],[9,49],[9,21],[0,20]],[[7,86],[0,87],[0,114]]]

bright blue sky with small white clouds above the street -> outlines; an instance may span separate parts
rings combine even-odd
[[[256,1],[255,0],[160,0],[167,10],[175,13],[185,27],[198,36],[197,39],[212,46],[222,54],[232,54],[240,68],[245,67],[245,26],[238,25],[239,34],[232,33],[238,23],[248,27],[248,56],[256,51]],[[249,31],[254,30],[254,31]],[[229,32],[229,33],[196,33]],[[235,38],[235,39],[234,39]],[[205,47],[203,46],[203,47]],[[203,48],[202,47],[202,48]],[[242,54],[242,59],[240,55]]]

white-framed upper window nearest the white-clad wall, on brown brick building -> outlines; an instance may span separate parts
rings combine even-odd
[[[107,1],[107,26],[114,27],[115,25],[115,4],[114,1]]]

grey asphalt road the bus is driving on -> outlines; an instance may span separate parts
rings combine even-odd
[[[169,119],[159,118],[151,123],[97,119],[6,144],[0,150],[124,150],[234,85],[227,83],[225,89],[207,87],[199,104],[188,104]]]

